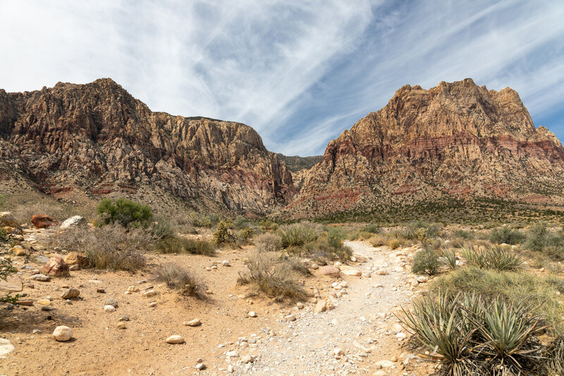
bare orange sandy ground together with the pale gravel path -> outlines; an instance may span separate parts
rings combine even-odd
[[[347,244],[357,258],[351,266],[364,272],[362,277],[341,274],[337,279],[314,270],[305,278],[312,296],[318,293],[319,300],[333,303],[335,308],[323,313],[313,313],[315,298],[299,309],[238,286],[250,246],[221,250],[216,257],[149,255],[144,273],[84,269],[48,282],[29,280],[39,262],[13,257],[27,294],[21,299],[35,303],[0,312],[1,337],[16,348],[0,358],[0,375],[428,375],[429,365],[412,358],[402,338],[405,331],[396,336],[393,317],[417,293],[405,265],[415,249]],[[221,265],[223,260],[230,266]],[[189,267],[212,294],[181,296],[152,281],[150,268],[164,262]],[[376,269],[389,274],[378,275]],[[343,281],[347,286],[341,288]],[[332,288],[334,282],[338,286]],[[80,296],[61,299],[67,286],[79,289]],[[125,294],[129,286],[140,291]],[[142,296],[149,286],[156,296]],[[51,310],[37,303],[45,298]],[[114,312],[102,309],[109,298],[118,303]],[[118,329],[124,316],[125,329]],[[185,325],[195,318],[202,325]],[[73,329],[71,341],[53,339],[58,325]],[[185,344],[167,344],[174,334],[183,336]],[[197,370],[198,364],[205,369]]]

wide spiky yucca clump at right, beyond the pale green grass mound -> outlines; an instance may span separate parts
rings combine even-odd
[[[499,245],[486,248],[461,248],[460,253],[469,265],[481,269],[516,270],[523,265],[522,258]]]

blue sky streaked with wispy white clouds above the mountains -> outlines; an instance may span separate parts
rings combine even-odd
[[[468,77],[564,140],[564,1],[0,0],[0,88],[105,77],[288,155],[323,154],[403,85]]]

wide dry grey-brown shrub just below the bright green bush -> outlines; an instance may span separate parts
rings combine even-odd
[[[145,266],[144,253],[154,244],[151,231],[125,229],[119,224],[93,229],[71,227],[62,232],[53,228],[46,232],[46,236],[54,247],[86,253],[90,266],[96,269],[140,269]]]

